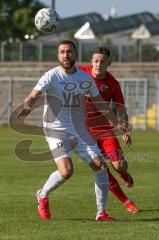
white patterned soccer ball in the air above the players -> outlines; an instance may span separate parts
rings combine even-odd
[[[42,8],[35,15],[35,26],[42,32],[54,32],[59,22],[58,13],[51,8]]]

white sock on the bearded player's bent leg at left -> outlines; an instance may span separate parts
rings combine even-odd
[[[61,186],[65,181],[66,179],[60,175],[58,170],[53,172],[44,184],[40,192],[40,197],[47,197],[51,191]]]

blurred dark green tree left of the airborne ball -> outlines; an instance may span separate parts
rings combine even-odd
[[[0,41],[35,34],[34,16],[43,7],[37,0],[0,0]]]

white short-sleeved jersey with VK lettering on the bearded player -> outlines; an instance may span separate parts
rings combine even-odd
[[[58,66],[46,72],[34,89],[46,93],[44,130],[64,130],[70,133],[85,131],[85,95],[99,95],[88,73],[77,68],[75,73],[67,74]]]

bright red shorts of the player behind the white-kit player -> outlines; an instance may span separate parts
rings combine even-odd
[[[97,140],[97,143],[103,155],[111,162],[124,160],[123,151],[120,147],[118,139],[115,136]]]

